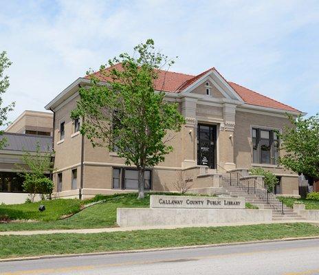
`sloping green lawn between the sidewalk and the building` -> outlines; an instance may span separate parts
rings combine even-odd
[[[150,195],[146,194],[142,200],[137,199],[136,193],[117,194],[102,196],[98,195],[93,199],[79,201],[77,199],[54,199],[52,201],[43,201],[39,203],[23,203],[14,206],[0,206],[0,213],[7,213],[8,209],[21,211],[20,216],[12,215],[11,217],[22,217],[22,219],[38,219],[35,222],[11,222],[0,223],[0,231],[24,231],[24,230],[54,230],[54,229],[83,229],[83,228],[111,228],[116,225],[117,208],[148,208]],[[162,195],[179,195],[176,193],[161,193]],[[85,210],[80,210],[81,203],[91,203],[93,201],[105,202],[90,206]],[[72,204],[72,201],[74,204]],[[46,209],[39,212],[39,204],[44,203]],[[63,207],[65,207],[64,212]],[[255,209],[250,203],[246,203],[246,208]],[[25,213],[23,214],[23,210]],[[76,212],[72,217],[59,219],[63,214]],[[32,217],[32,218],[31,218]]]

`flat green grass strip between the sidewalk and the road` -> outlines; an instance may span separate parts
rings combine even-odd
[[[11,235],[0,236],[0,258],[167,248],[318,235],[318,226],[309,223],[137,230],[98,234]]]

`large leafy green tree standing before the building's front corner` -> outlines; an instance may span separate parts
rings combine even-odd
[[[100,67],[101,84],[90,74],[91,86],[80,88],[80,100],[72,118],[83,118],[81,133],[93,146],[117,151],[127,165],[138,169],[138,198],[144,198],[144,171],[164,161],[173,147],[168,141],[180,131],[183,116],[177,104],[166,102],[163,91],[155,91],[158,69],[173,65],[156,52],[154,42],[134,47],[134,54],[120,54]]]

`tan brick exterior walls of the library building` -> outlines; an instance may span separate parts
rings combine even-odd
[[[205,92],[203,87],[195,89]],[[199,93],[200,94],[200,93]],[[216,94],[216,97],[222,96]],[[56,173],[63,173],[63,191],[71,188],[72,168],[78,168],[78,188],[80,188],[80,162],[81,162],[81,135],[73,133],[72,120],[69,118],[70,112],[76,107],[76,100],[67,102],[56,111],[56,121],[54,129],[54,150],[56,151],[55,168]],[[179,133],[168,133],[173,135],[169,144],[174,151],[166,155],[165,161],[158,164],[153,169],[152,184],[153,190],[168,191],[175,190],[173,183],[176,181],[177,171],[197,165],[197,124],[215,124],[217,126],[217,164],[227,168],[251,168],[252,167],[252,140],[251,126],[265,126],[275,129],[283,129],[287,123],[286,118],[274,115],[250,113],[246,111],[236,111],[232,113],[231,104],[221,106],[199,104],[196,100],[180,102],[179,109],[186,117],[186,124]],[[65,138],[59,141],[58,131],[60,122],[65,121]],[[235,125],[234,125],[235,124]],[[98,194],[101,190],[111,190],[112,173],[114,166],[124,166],[124,159],[118,157],[114,152],[109,152],[107,148],[93,148],[91,142],[84,138],[84,177],[83,186]],[[285,177],[291,172],[276,166],[264,166],[272,170],[277,175],[283,176],[282,190],[285,194],[294,194],[298,189],[298,179],[296,177]],[[192,188],[212,186],[212,180],[205,178],[197,180],[193,176]],[[56,173],[54,181],[56,183]],[[194,175],[193,175],[194,174]],[[116,190],[113,190],[114,192]],[[103,191],[104,192],[104,191]],[[117,192],[117,191],[116,191]],[[118,190],[118,192],[122,192]]]

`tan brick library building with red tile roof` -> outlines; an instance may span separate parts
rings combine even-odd
[[[102,83],[108,80],[100,73],[96,76]],[[93,148],[80,135],[80,120],[70,118],[79,87],[89,85],[88,78],[78,78],[45,107],[54,112],[56,197],[85,198],[137,189],[137,170],[124,165],[116,152]],[[217,166],[263,167],[281,178],[276,192],[298,194],[298,176],[276,164],[276,131],[289,123],[285,113],[300,111],[228,82],[215,68],[197,76],[159,71],[155,89],[164,91],[166,100],[178,102],[186,124],[170,142],[174,151],[146,172],[146,188],[174,190],[178,171],[192,177],[192,188],[219,187]]]

